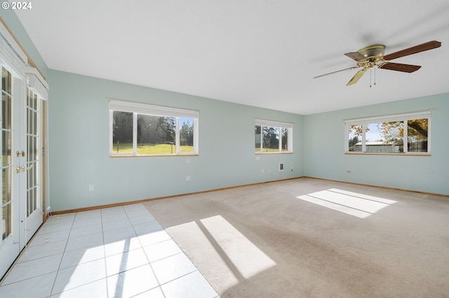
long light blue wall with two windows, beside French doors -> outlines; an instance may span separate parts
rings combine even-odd
[[[52,211],[303,176],[303,116],[49,71]],[[107,97],[199,110],[199,156],[109,157]],[[293,122],[294,153],[254,152],[254,120]],[[191,164],[186,164],[186,159]],[[278,171],[279,162],[286,170]],[[293,167],[294,171],[291,171]],[[262,173],[264,169],[264,173]],[[192,180],[186,182],[186,176]],[[94,185],[93,192],[88,185]]]

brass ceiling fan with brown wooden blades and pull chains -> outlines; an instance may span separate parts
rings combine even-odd
[[[431,50],[434,48],[441,47],[440,41],[429,41],[427,43],[422,43],[420,45],[415,45],[411,48],[406,48],[404,50],[400,50],[398,52],[393,52],[389,55],[384,55],[385,45],[369,45],[366,48],[361,48],[357,52],[347,52],[344,55],[347,57],[356,60],[357,66],[349,67],[347,69],[341,69],[340,71],[346,71],[348,69],[358,69],[363,67],[360,71],[358,71],[354,77],[349,80],[346,84],[354,85],[357,81],[366,73],[368,69],[373,69],[373,67],[377,66],[379,69],[389,69],[391,71],[403,71],[406,73],[413,73],[413,71],[417,71],[421,68],[419,65],[412,64],[401,64],[401,63],[392,63],[389,62],[392,59],[396,59],[399,57],[404,57],[412,54],[416,54],[417,52],[424,52],[426,50]],[[314,78],[320,78],[322,76],[328,76],[332,73],[337,73],[340,71],[333,71],[331,73],[325,73],[321,76],[316,76]]]

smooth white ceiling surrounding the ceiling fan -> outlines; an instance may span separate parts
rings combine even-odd
[[[307,115],[449,92],[448,0],[39,0],[15,10],[50,69]],[[344,56],[441,48],[356,85]],[[373,73],[374,77],[374,73]],[[374,78],[372,78],[374,80]],[[132,100],[131,98],[129,100]]]

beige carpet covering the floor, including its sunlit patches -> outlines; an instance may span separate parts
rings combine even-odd
[[[222,298],[449,297],[448,197],[298,178],[145,206]]]

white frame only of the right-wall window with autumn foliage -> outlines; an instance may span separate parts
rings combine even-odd
[[[427,152],[408,152],[408,120],[428,119],[427,129]],[[404,122],[403,123],[403,152],[366,152],[366,125],[380,122]],[[361,152],[349,151],[349,126],[362,126],[362,150]],[[369,118],[358,118],[344,120],[344,153],[354,155],[430,155],[431,154],[431,111],[415,113],[403,113],[394,115],[383,115]]]

